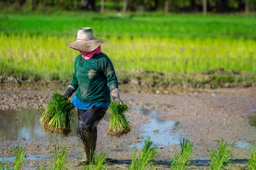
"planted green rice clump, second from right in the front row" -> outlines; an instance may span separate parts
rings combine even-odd
[[[218,148],[212,149],[209,152],[211,161],[209,162],[210,170],[219,170],[223,164],[230,162],[228,159],[232,157],[232,150],[230,144],[224,141],[218,141]]]

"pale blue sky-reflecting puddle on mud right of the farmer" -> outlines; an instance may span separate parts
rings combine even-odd
[[[143,124],[140,128],[143,131],[139,138],[143,138],[140,143],[136,143],[136,148],[142,148],[144,140],[147,136],[150,136],[150,139],[157,144],[157,146],[170,146],[170,145],[179,145],[180,136],[177,132],[172,132],[172,127],[179,124],[179,122],[174,122],[172,120],[162,120],[157,118],[156,110],[147,110],[141,108],[132,109],[134,112],[140,112],[141,114],[147,115],[150,118],[148,123]]]

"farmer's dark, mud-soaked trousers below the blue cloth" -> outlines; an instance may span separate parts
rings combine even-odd
[[[84,149],[83,162],[90,162],[93,157],[93,152],[96,148],[97,142],[97,124],[104,117],[107,108],[94,106],[90,110],[77,110],[78,111],[78,127],[77,137]]]

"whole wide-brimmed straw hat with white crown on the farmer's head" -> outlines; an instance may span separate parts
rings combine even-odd
[[[93,37],[92,28],[83,27],[77,31],[77,40],[67,46],[83,52],[92,52],[102,43],[106,43],[106,40]]]

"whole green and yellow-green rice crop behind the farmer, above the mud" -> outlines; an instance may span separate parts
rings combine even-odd
[[[120,79],[138,69],[183,75],[223,68],[239,74],[227,81],[256,82],[253,14],[1,13],[0,74],[20,81],[70,80],[79,52],[65,45],[80,27],[107,40],[102,52]]]

